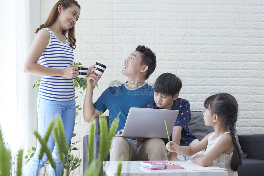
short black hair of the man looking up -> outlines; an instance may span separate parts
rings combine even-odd
[[[141,65],[148,66],[148,70],[146,73],[146,80],[147,80],[149,76],[154,72],[157,66],[156,55],[153,51],[151,51],[151,49],[143,45],[138,45],[138,47],[136,48],[136,51],[139,51],[142,53]]]

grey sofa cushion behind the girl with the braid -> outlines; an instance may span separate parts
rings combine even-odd
[[[204,111],[191,111],[191,121],[189,123],[189,131],[191,131],[191,133],[195,135],[195,137],[199,141],[202,140],[206,135],[214,131],[213,127],[206,126],[204,124],[203,113]],[[244,152],[242,151],[240,147],[240,144],[238,142],[236,127],[235,127],[235,136],[236,136],[236,142],[238,144],[238,147],[241,153],[241,157],[245,158],[247,154],[244,154]]]

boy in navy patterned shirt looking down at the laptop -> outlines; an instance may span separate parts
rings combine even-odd
[[[198,141],[189,131],[189,122],[191,120],[190,104],[187,100],[178,98],[181,90],[181,80],[171,73],[161,74],[154,83],[154,102],[147,108],[155,109],[173,109],[179,110],[176,123],[173,127],[170,140],[181,146],[191,146]],[[167,144],[168,139],[163,139]],[[170,152],[168,160],[189,160],[194,156],[203,156],[204,151],[198,152],[192,156],[184,156],[175,152]]]

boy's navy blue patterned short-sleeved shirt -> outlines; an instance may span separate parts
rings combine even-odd
[[[163,109],[157,107],[156,103],[153,102],[149,104],[146,108],[153,108],[153,109]],[[181,126],[183,127],[181,131],[181,141],[180,146],[189,146],[190,143],[197,139],[192,133],[189,131],[189,122],[191,120],[191,109],[190,109],[190,103],[188,100],[184,100],[181,98],[177,98],[173,101],[173,105],[171,107],[172,110],[179,110],[179,115],[176,119],[175,126]],[[165,144],[169,142],[168,139],[162,139]],[[170,136],[170,140],[172,140],[172,134]]]

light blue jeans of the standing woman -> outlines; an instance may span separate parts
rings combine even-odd
[[[70,101],[52,101],[38,97],[37,111],[38,111],[37,131],[39,135],[42,138],[45,136],[49,123],[51,122],[51,120],[54,119],[54,116],[57,113],[59,113],[61,115],[64,131],[65,131],[66,143],[67,145],[69,145],[72,139],[74,124],[75,124],[75,116],[76,116],[75,99]],[[49,166],[49,176],[62,176],[64,167],[62,167],[59,162],[57,144],[54,141],[53,135],[50,135],[47,146],[49,147],[49,150],[52,152],[52,158],[56,164],[56,172],[51,167],[51,165]],[[48,161],[46,153],[44,153],[41,160],[38,159],[40,148],[41,148],[41,144],[39,143],[39,141],[37,141],[36,153],[26,165],[23,176],[37,176],[41,167],[43,167],[45,163]]]

